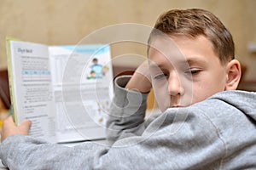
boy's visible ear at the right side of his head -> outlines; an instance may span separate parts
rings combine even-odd
[[[232,59],[227,64],[227,82],[225,90],[236,90],[241,78],[241,65],[238,60]]]

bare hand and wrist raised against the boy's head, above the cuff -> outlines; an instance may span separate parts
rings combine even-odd
[[[137,67],[137,70],[134,72],[125,88],[137,90],[141,93],[150,92],[152,84],[149,73],[148,60],[143,61],[143,63]]]

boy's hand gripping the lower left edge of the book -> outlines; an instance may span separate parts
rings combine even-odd
[[[13,117],[9,116],[4,122],[2,127],[2,133],[1,133],[1,142],[3,142],[4,139],[7,137],[13,135],[13,134],[24,134],[28,135],[28,131],[32,125],[31,121],[24,121],[21,123],[20,126],[16,126],[15,122],[13,121]]]

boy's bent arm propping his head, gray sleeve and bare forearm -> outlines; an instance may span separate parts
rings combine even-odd
[[[114,98],[107,122],[108,141],[143,133],[147,97],[151,88],[148,61],[144,61],[131,76],[117,77]]]

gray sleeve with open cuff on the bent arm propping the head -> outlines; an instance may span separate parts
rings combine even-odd
[[[131,76],[122,76],[114,81],[114,97],[107,122],[107,139],[110,143],[141,135],[145,129],[143,122],[148,94],[125,89],[130,78]]]

